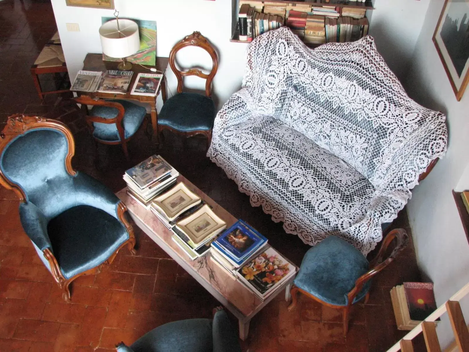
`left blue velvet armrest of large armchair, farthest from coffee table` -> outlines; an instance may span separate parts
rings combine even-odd
[[[31,202],[21,203],[20,220],[24,232],[39,250],[44,251],[47,248],[52,250],[51,240],[47,235],[47,218],[41,209]]]

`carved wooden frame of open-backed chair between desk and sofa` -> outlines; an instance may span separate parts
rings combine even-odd
[[[180,71],[176,67],[176,63],[175,63],[176,54],[179,50],[181,50],[182,48],[186,46],[200,47],[204,49],[210,55],[210,57],[212,58],[212,70],[210,71],[209,74],[203,73],[200,69],[188,69],[187,71]],[[182,93],[182,89],[184,87],[183,77],[197,76],[206,80],[205,81],[205,95],[208,98],[212,97],[212,81],[218,70],[218,54],[215,51],[215,48],[207,40],[207,38],[205,38],[200,32],[198,31],[193,32],[191,35],[184,37],[181,41],[177,42],[173,46],[169,54],[169,66],[173,70],[174,75],[176,75],[178,93]],[[159,132],[162,132],[163,130],[170,130],[176,134],[185,135],[187,138],[198,135],[198,134],[204,135],[205,137],[207,137],[208,145],[210,145],[210,142],[212,141],[212,130],[196,130],[196,131],[190,131],[190,132],[182,132],[182,131],[174,130],[173,128],[166,126],[166,125],[160,125]]]

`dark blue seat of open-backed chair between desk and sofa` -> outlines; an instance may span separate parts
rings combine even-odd
[[[181,132],[211,130],[215,120],[213,100],[195,93],[178,93],[166,100],[158,124]]]

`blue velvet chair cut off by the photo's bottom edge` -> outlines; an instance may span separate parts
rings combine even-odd
[[[236,330],[227,314],[218,310],[210,319],[173,321],[140,337],[130,347],[123,342],[117,352],[241,352]]]

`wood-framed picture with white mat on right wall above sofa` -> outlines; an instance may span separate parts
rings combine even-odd
[[[459,101],[469,81],[469,0],[445,0],[433,43]]]

